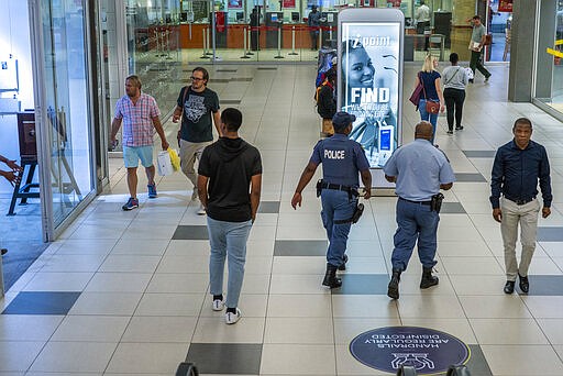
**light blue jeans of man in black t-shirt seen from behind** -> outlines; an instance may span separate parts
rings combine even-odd
[[[246,261],[246,240],[252,229],[252,221],[224,222],[207,218],[207,230],[211,255],[209,257],[209,284],[212,295],[223,294],[224,259],[229,256],[229,280],[227,284],[227,307],[239,305],[244,263]]]

